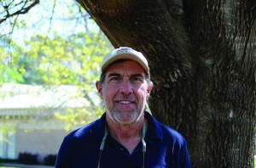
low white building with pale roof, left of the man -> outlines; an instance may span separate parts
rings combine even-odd
[[[92,97],[94,102],[98,100],[96,94]],[[68,132],[96,119],[90,104],[78,87],[0,84],[0,158],[17,159],[27,152],[38,154],[43,161],[47,154],[57,154]],[[68,125],[64,120],[69,118],[56,116],[81,109],[92,113],[81,115],[84,122],[65,131]]]

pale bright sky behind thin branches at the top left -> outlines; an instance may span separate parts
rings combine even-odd
[[[56,0],[55,4],[52,0],[40,1],[35,7],[31,8],[27,14],[20,14],[18,18],[19,26],[15,26],[15,30],[9,38],[22,44],[29,37],[38,33],[48,33],[53,36],[54,31],[58,31],[66,36],[72,35],[74,32],[99,31],[99,27],[94,20],[86,20],[90,15],[84,9],[79,8],[79,4],[73,0]],[[3,17],[0,14],[0,18]],[[8,34],[11,30],[10,22],[7,20],[1,25],[1,34]],[[0,35],[1,35],[0,34]]]

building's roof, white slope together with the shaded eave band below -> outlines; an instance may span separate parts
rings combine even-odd
[[[93,112],[92,105],[98,103],[96,92],[84,95],[79,87],[3,83],[0,84],[0,127],[4,123],[12,123],[26,129],[64,129],[67,126],[68,129],[76,129],[84,122],[96,119],[95,113],[84,114],[81,111]],[[65,117],[71,110],[78,117],[73,125],[67,121],[72,119]]]

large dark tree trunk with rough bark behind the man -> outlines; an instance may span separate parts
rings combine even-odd
[[[255,1],[79,3],[114,47],[148,58],[152,114],[183,134],[193,167],[253,167]]]

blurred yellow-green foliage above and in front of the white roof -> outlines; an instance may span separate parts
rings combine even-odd
[[[57,32],[52,37],[44,34],[32,36],[22,46],[11,44],[11,61],[4,65],[2,82],[79,87],[78,92],[74,94],[86,98],[90,102],[90,108],[67,109],[65,115],[55,113],[55,117],[67,122],[67,130],[72,125],[84,125],[84,117],[90,118],[92,112],[96,115],[102,114],[95,98],[89,93],[95,90],[95,81],[99,79],[100,62],[102,56],[108,53],[108,46],[106,37],[101,32],[94,31],[80,32],[73,35],[72,40],[70,36]],[[3,51],[8,53],[5,48]]]

